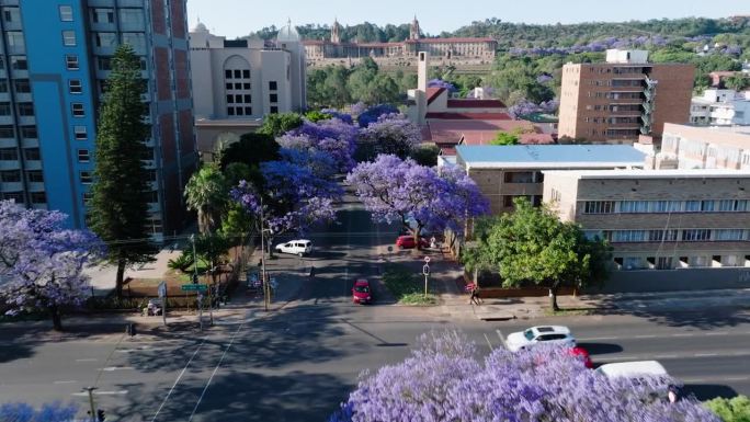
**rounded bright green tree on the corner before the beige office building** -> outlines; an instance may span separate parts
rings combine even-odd
[[[534,207],[524,197],[513,203],[513,213],[477,226],[479,244],[466,253],[467,267],[499,271],[505,287],[525,283],[546,287],[553,310],[559,309],[560,287],[578,288],[606,280],[606,242],[587,239],[578,225],[560,221],[546,206]]]

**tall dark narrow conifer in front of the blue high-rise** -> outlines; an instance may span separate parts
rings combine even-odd
[[[112,60],[96,130],[90,227],[107,243],[107,261],[117,266],[117,297],[123,295],[125,269],[151,262],[157,253],[147,228],[151,187],[144,160],[152,151],[146,146],[150,127],[144,123],[148,105],[140,100],[146,92],[140,71],[133,47],[121,45]]]

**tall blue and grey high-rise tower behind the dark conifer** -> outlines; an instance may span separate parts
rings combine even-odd
[[[195,168],[184,0],[2,0],[0,194],[83,228],[100,100],[121,43],[141,57],[152,126],[149,230],[182,228]]]

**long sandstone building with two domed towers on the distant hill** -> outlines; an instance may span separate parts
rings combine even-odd
[[[417,16],[411,22],[409,38],[395,43],[345,43],[340,36],[341,25],[338,21],[331,26],[329,39],[305,41],[305,53],[311,66],[325,62],[327,59],[348,59],[372,57],[416,58],[419,52],[427,52],[435,57],[446,59],[471,58],[492,60],[498,49],[493,38],[423,38]]]

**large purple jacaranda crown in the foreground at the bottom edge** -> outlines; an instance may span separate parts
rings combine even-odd
[[[404,362],[364,373],[329,422],[720,422],[694,399],[670,403],[674,380],[610,379],[566,349],[496,349],[481,362],[455,332],[420,341]]]

